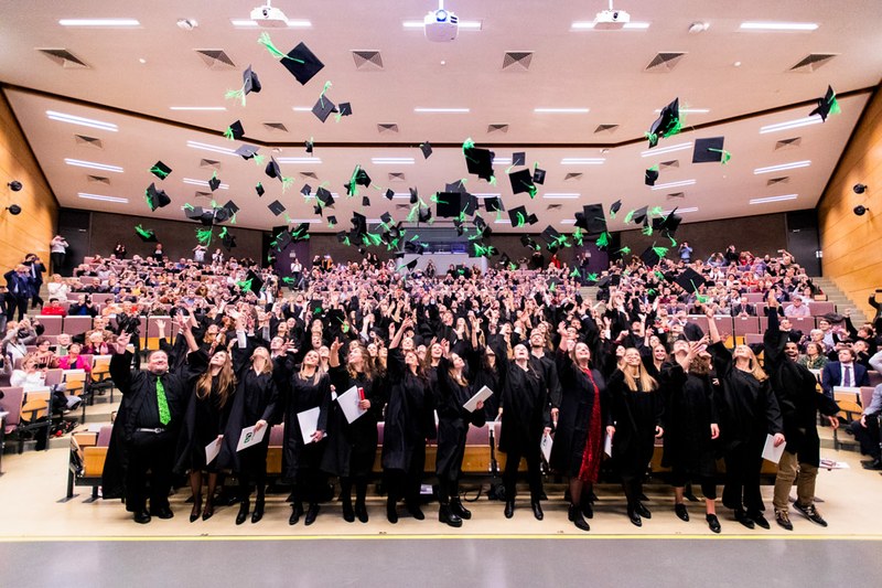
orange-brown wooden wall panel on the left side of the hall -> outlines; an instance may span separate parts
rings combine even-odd
[[[20,192],[7,185],[18,180]],[[46,183],[6,96],[0,93],[0,274],[35,253],[49,266],[49,242],[54,236],[58,202]],[[4,210],[18,204],[13,216]]]

